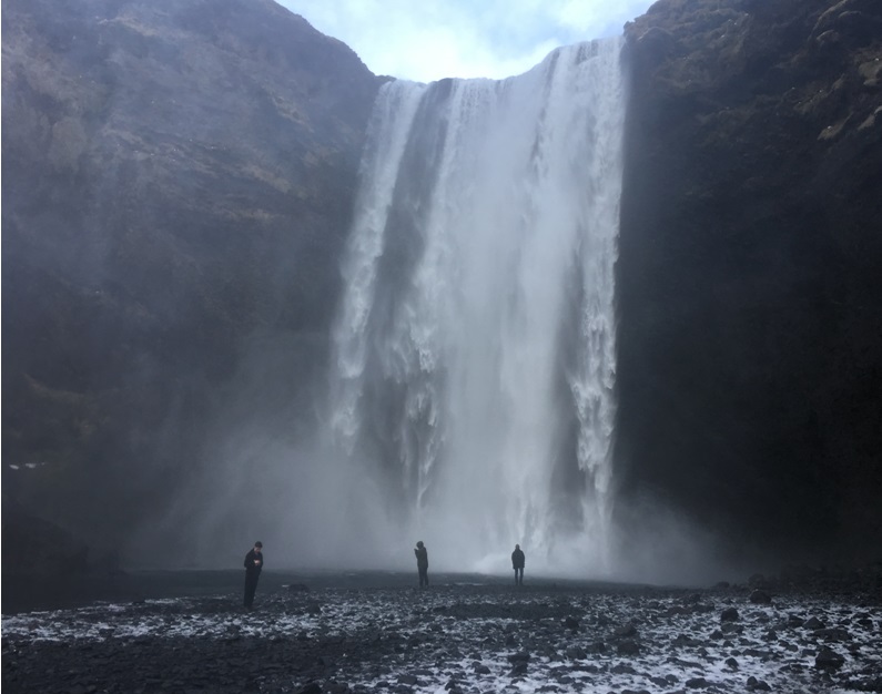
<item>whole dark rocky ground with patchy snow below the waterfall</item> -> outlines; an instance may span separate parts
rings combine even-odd
[[[414,576],[415,579],[415,576]],[[879,593],[438,576],[4,615],[10,692],[882,692]]]

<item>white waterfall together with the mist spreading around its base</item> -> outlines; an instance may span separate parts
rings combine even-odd
[[[620,49],[381,90],[330,339],[247,341],[140,561],[261,540],[271,567],[404,571],[422,540],[434,571],[506,573],[516,543],[534,575],[727,571],[667,511],[617,508]]]

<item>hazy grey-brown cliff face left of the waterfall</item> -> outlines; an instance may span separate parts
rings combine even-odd
[[[3,0],[2,31],[3,492],[113,544],[222,388],[308,407],[379,80],[268,0]]]

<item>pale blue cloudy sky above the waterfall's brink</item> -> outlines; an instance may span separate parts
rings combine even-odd
[[[652,0],[276,0],[375,74],[428,82],[520,74],[552,49],[618,35]]]

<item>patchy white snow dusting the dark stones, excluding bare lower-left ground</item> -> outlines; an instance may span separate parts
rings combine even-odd
[[[775,596],[752,604],[726,593],[488,594],[457,585],[258,598],[253,613],[240,611],[233,595],[32,612],[3,616],[2,632],[24,642],[388,637],[415,647],[379,649],[373,667],[344,656],[337,667],[338,680],[353,686],[392,691],[404,684],[443,693],[450,681],[463,692],[880,691],[866,687],[882,674],[882,615],[844,600]],[[738,610],[736,621],[721,620],[727,608]],[[578,625],[566,624],[570,615]],[[823,647],[844,660],[829,674],[815,665]],[[519,672],[517,654],[526,661]]]

